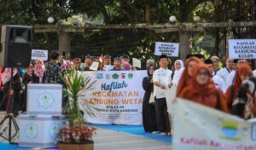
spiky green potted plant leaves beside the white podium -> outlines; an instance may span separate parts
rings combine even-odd
[[[63,112],[67,113],[70,126],[82,125],[84,124],[84,118],[79,109],[79,94],[84,90],[92,90],[92,86],[95,82],[91,82],[90,78],[85,78],[74,69],[67,72],[65,76],[61,75],[61,79],[67,86],[67,89],[64,89],[64,95],[68,97],[68,102]],[[92,106],[88,104],[84,109],[87,114],[94,115],[91,107]]]

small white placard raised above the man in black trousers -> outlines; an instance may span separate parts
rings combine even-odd
[[[167,55],[171,57],[178,57],[178,51],[179,43],[155,43],[154,55]]]

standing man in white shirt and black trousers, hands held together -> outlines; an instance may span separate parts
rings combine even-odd
[[[155,109],[158,130],[160,134],[170,132],[169,117],[166,105],[166,88],[171,87],[172,71],[168,69],[168,58],[166,55],[160,55],[160,68],[153,74],[154,95],[155,95]]]

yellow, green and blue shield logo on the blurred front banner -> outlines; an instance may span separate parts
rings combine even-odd
[[[237,137],[238,123],[223,121],[222,123],[222,136],[219,138],[230,141],[241,141],[241,138]]]

